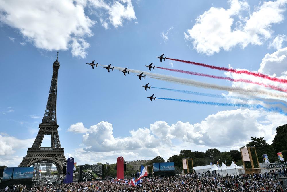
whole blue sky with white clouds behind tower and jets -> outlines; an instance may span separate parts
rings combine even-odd
[[[65,156],[73,156],[77,164],[115,163],[118,156],[130,161],[160,155],[166,160],[182,149],[239,149],[250,136],[265,137],[270,143],[276,127],[286,122],[284,115],[252,108],[150,102],[146,97],[154,94],[246,103],[152,88],[145,91],[141,85],[146,83],[247,99],[250,96],[151,78],[139,81],[133,73],[124,76],[118,70],[108,73],[102,66],[92,69],[85,64],[95,60],[101,65],[147,71],[144,65],[154,63],[284,88],[257,77],[170,60],[160,62],[156,56],[164,53],[170,58],[259,70],[286,78],[286,1],[3,1],[0,11],[0,165],[18,166],[27,147],[32,146],[44,115],[57,51],[59,137]],[[151,72],[270,91],[162,69]],[[45,138],[42,146],[49,146],[49,140]]]

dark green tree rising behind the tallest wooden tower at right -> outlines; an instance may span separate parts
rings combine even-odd
[[[246,147],[255,147],[259,163],[263,162],[262,155],[267,154],[269,161],[278,161],[275,150],[272,145],[266,143],[264,137],[251,137],[251,141],[246,144]]]

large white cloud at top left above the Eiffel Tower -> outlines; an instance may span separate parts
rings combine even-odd
[[[136,19],[130,0],[111,5],[101,0],[9,0],[0,1],[0,21],[18,29],[26,42],[37,48],[71,49],[73,57],[85,58],[90,46],[85,38],[94,35],[91,28],[96,23],[85,14],[88,5],[92,9],[104,8],[115,28],[122,26],[124,19]]]

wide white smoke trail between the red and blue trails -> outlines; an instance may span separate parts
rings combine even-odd
[[[100,65],[106,67],[107,65]],[[124,70],[125,68],[123,67],[114,67],[114,69],[118,70]],[[275,93],[275,92],[269,92],[265,91],[262,89],[244,89],[241,87],[228,87],[228,86],[220,86],[216,84],[209,84],[209,83],[204,83],[204,82],[199,82],[199,81],[194,81],[192,79],[185,79],[185,78],[179,78],[179,77],[174,77],[170,75],[161,75],[161,74],[156,74],[156,73],[150,73],[146,71],[139,71],[139,70],[134,70],[134,69],[127,69],[127,71],[130,71],[131,73],[143,73],[143,75],[147,75],[150,78],[153,79],[158,79],[162,81],[167,81],[167,82],[173,82],[173,83],[178,83],[178,84],[184,84],[188,86],[195,86],[195,87],[200,87],[200,88],[208,88],[208,89],[216,89],[216,90],[225,90],[225,91],[230,91],[230,92],[237,92],[239,94],[245,94],[245,95],[250,95],[250,96],[258,96],[260,94],[263,95],[269,95],[274,98],[287,98],[287,94],[284,93]]]

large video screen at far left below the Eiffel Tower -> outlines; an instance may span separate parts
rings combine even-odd
[[[0,188],[11,187],[16,184],[32,186],[33,167],[7,167],[3,172]]]

